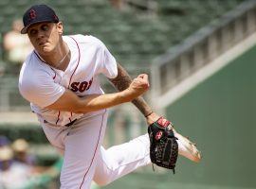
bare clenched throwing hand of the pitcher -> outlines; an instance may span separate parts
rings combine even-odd
[[[133,79],[130,86],[126,89],[126,94],[131,100],[137,98],[139,95],[144,94],[149,89],[149,78],[146,74],[140,74]]]

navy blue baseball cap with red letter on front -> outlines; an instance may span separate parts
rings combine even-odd
[[[46,5],[35,5],[27,9],[23,15],[24,27],[21,30],[22,34],[27,33],[27,28],[37,23],[59,23],[59,18],[55,11]]]

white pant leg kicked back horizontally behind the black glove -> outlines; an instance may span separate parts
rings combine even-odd
[[[149,149],[148,134],[107,150],[101,147],[93,180],[99,185],[106,185],[140,166],[151,163]]]

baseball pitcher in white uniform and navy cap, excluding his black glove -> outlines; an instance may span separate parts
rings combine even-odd
[[[30,102],[46,137],[64,155],[62,189],[88,189],[91,181],[106,185],[137,167],[151,163],[148,134],[129,143],[104,149],[107,108],[133,101],[150,125],[159,119],[140,97],[149,89],[148,76],[131,80],[106,46],[88,35],[63,36],[64,26],[46,5],[27,9],[22,34],[34,50],[20,72],[20,93]],[[104,94],[103,74],[119,89]],[[193,162],[200,154],[175,132],[178,153]]]

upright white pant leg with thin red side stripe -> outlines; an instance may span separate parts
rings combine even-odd
[[[107,113],[81,118],[64,140],[62,189],[89,189],[100,154]]]

